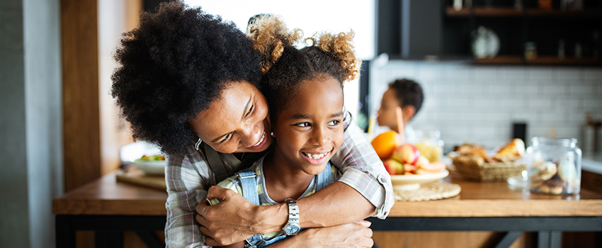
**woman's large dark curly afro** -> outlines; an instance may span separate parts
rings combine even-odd
[[[111,94],[135,140],[181,154],[196,138],[188,121],[237,81],[259,84],[259,54],[234,23],[181,1],[142,13],[115,52]]]

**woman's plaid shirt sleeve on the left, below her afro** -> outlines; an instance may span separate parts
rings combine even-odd
[[[165,171],[167,186],[166,247],[208,247],[195,220],[195,207],[215,185],[205,156],[191,147],[186,154],[170,156]]]

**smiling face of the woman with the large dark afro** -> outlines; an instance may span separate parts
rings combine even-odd
[[[272,143],[268,110],[266,97],[256,86],[234,81],[190,124],[217,152],[262,152]]]

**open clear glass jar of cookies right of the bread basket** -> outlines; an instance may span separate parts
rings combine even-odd
[[[577,147],[577,139],[533,137],[526,159],[531,192],[579,193],[581,149]]]

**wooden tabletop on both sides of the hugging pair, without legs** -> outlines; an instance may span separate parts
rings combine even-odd
[[[513,190],[506,182],[464,181],[450,171],[445,181],[460,184],[459,196],[438,201],[397,201],[390,217],[602,216],[602,194],[550,196]],[[166,215],[167,193],[115,180],[115,172],[52,201],[55,215]]]

